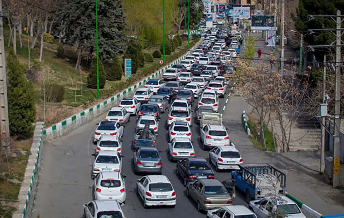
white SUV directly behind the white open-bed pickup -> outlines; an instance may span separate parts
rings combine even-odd
[[[201,129],[200,136],[203,148],[230,145],[229,136],[224,125],[207,124]]]

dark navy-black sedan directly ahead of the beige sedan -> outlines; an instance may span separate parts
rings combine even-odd
[[[204,158],[184,158],[177,162],[175,173],[183,180],[186,186],[188,182],[199,179],[214,179],[214,172]]]

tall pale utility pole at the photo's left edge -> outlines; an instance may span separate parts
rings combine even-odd
[[[8,120],[8,104],[7,104],[7,78],[6,78],[6,60],[5,45],[3,39],[3,11],[2,0],[0,0],[0,130],[1,130],[1,148],[7,149],[9,146],[10,128]]]

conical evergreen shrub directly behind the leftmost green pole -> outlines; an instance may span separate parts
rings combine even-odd
[[[106,72],[103,63],[99,60],[99,88],[104,88],[106,81]],[[97,88],[97,57],[93,56],[92,63],[89,68],[89,74],[87,77],[87,87]]]

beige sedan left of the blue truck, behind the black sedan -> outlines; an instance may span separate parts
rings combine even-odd
[[[216,179],[189,182],[186,186],[186,196],[196,202],[198,211],[232,205],[232,198],[226,188]]]

